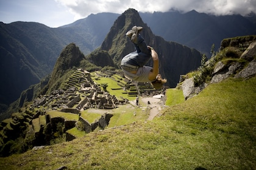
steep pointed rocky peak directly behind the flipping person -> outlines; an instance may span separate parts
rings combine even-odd
[[[108,52],[117,67],[125,55],[135,50],[130,39],[126,37],[126,32],[134,25],[143,27],[141,35],[146,43],[157,51],[160,60],[160,73],[168,81],[166,86],[175,87],[181,74],[190,72],[200,65],[201,53],[176,42],[165,41],[160,36],[155,36],[148,25],[142,21],[137,10],[129,9],[116,19],[99,48],[99,50]],[[97,60],[94,61],[94,64],[99,64],[96,62]],[[148,65],[152,66],[152,61]]]

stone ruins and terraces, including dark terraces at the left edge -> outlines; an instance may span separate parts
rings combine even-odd
[[[12,120],[2,121],[0,123],[2,135],[0,135],[3,142],[7,143],[10,139],[18,138],[20,131],[25,131],[24,128],[27,128],[35,136],[34,146],[41,146],[50,143],[51,133],[57,129],[58,124],[62,124],[66,141],[73,140],[76,137],[66,131],[76,127],[77,124],[82,124],[81,130],[89,133],[96,128],[104,129],[113,116],[103,114],[99,120],[88,123],[80,115],[80,111],[90,108],[115,109],[118,105],[127,103],[129,101],[126,99],[118,100],[115,96],[103,92],[101,87],[94,84],[90,73],[80,69],[66,81],[65,89],[54,90],[49,95],[41,95],[27,106],[26,110],[13,114]],[[46,114],[51,110],[75,114],[77,119],[51,117],[50,114]]]

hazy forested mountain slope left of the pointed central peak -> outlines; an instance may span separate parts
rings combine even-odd
[[[87,54],[102,43],[118,15],[99,13],[57,29],[37,22],[0,22],[1,107],[52,72],[62,49],[75,42]]]

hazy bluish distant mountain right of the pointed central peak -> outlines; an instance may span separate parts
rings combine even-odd
[[[214,16],[192,10],[188,13],[154,12],[140,13],[141,18],[151,27],[155,35],[162,36],[166,41],[176,41],[193,47],[210,57],[212,44],[216,50],[224,38],[255,35],[255,15]]]

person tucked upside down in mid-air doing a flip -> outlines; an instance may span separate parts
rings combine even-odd
[[[132,30],[126,33],[133,42],[136,52],[131,52],[124,56],[121,61],[121,68],[124,75],[130,80],[151,82],[155,89],[162,89],[166,80],[162,79],[159,74],[158,55],[152,47],[147,46],[144,38],[140,35],[142,29],[143,27],[134,26]],[[153,60],[153,67],[144,66],[151,58]]]

